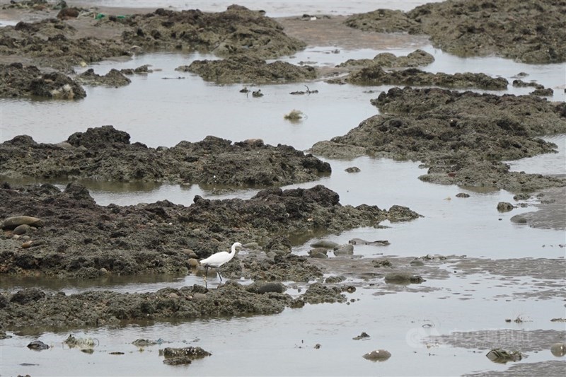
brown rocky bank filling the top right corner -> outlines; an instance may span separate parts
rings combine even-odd
[[[412,11],[378,9],[346,25],[378,32],[429,35],[434,47],[458,56],[488,56],[531,64],[566,61],[563,1],[443,1]]]

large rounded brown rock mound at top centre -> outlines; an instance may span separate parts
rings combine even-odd
[[[127,19],[124,42],[145,48],[197,50],[218,56],[254,55],[272,59],[304,49],[304,42],[288,37],[277,21],[259,11],[231,5],[226,11],[207,13],[163,8]]]

